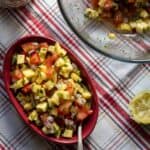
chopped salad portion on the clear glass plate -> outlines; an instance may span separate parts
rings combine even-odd
[[[105,20],[122,32],[150,31],[150,0],[91,0],[85,15]]]

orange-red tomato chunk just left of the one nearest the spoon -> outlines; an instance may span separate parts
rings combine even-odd
[[[70,107],[72,105],[72,102],[66,101],[63,104],[61,104],[58,108],[58,112],[61,115],[67,115],[70,112]]]

